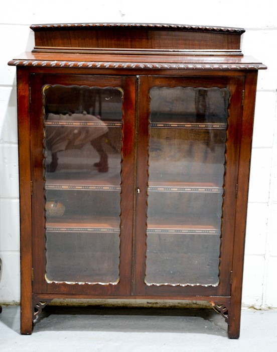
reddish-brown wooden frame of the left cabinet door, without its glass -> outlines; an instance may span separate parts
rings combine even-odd
[[[121,149],[121,214],[120,214],[120,261],[119,282],[116,284],[67,284],[66,282],[47,282],[45,278],[45,181],[42,136],[43,102],[42,87],[54,85],[90,85],[97,87],[121,87],[122,105],[122,149]],[[33,182],[32,196],[32,245],[33,245],[33,293],[76,294],[119,296],[130,295],[133,223],[133,148],[134,148],[134,92],[135,78],[132,76],[72,75],[72,74],[31,74],[31,173]],[[130,200],[130,204],[125,201]]]

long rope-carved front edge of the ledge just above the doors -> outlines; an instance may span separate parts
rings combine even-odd
[[[133,68],[133,69],[185,69],[185,70],[258,70],[266,69],[260,63],[143,63],[95,61],[11,60],[10,66],[70,67],[70,68]]]

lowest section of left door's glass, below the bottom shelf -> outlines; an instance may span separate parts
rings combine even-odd
[[[115,282],[118,278],[118,232],[47,231],[46,235],[48,281]]]

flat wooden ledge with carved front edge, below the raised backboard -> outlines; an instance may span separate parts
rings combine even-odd
[[[225,57],[225,59],[224,59]],[[225,61],[226,60],[226,61]],[[188,74],[195,74],[190,70],[212,70],[214,75],[222,73],[222,70],[232,70],[232,74],[236,75],[235,70],[258,70],[265,69],[266,66],[259,61],[247,56],[190,56],[190,55],[119,55],[119,54],[65,54],[65,53],[22,53],[19,58],[11,60],[9,65],[12,66],[31,66],[35,71],[36,68],[42,67],[43,71],[46,72],[46,68],[57,67],[59,69],[66,68],[67,72],[70,72],[70,68],[85,69],[86,73],[90,70],[96,69],[100,73],[100,69],[105,69],[105,74],[110,74],[107,69],[121,68],[137,70],[137,74],[145,74],[147,70],[148,74],[168,74],[166,70],[174,70],[174,74],[184,74],[183,70],[188,70]],[[50,71],[51,71],[50,69]],[[141,71],[140,71],[141,69]],[[181,70],[180,73],[177,71]],[[219,70],[219,71],[217,71]],[[81,71],[80,71],[81,73]],[[91,72],[92,73],[92,72]],[[121,70],[123,73],[123,70]],[[112,74],[112,73],[111,73]],[[169,74],[172,74],[169,73]],[[186,72],[187,74],[187,72]],[[199,73],[201,74],[201,73]],[[204,73],[203,73],[204,74]],[[226,73],[227,74],[227,73]]]

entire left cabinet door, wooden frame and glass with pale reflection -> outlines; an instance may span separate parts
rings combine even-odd
[[[129,295],[134,78],[31,74],[30,87],[33,292]]]

